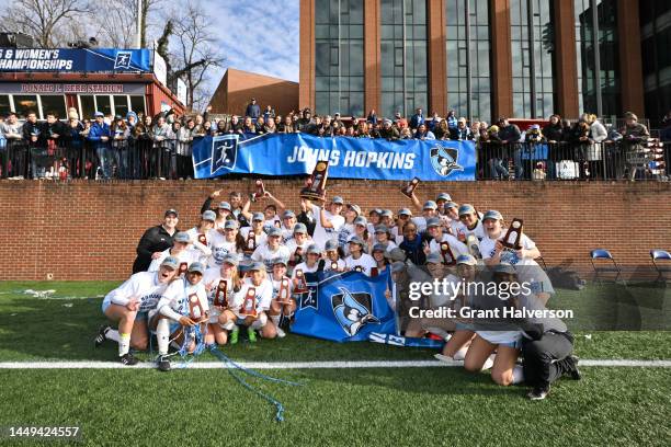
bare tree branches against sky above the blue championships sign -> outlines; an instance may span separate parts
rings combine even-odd
[[[25,33],[42,48],[65,46],[77,18],[89,11],[86,0],[15,0],[2,14],[2,27]],[[75,25],[75,26],[73,26]]]

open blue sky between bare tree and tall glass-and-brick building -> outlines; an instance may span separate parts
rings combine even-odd
[[[215,27],[224,68],[213,73],[216,89],[226,68],[298,82],[298,0],[218,0]]]

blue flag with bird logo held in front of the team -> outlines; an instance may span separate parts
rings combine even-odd
[[[389,270],[376,277],[359,272],[306,273],[308,291],[297,295],[292,332],[334,342],[367,341],[373,332],[395,334],[387,303]]]

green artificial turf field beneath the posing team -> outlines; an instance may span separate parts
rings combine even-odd
[[[93,349],[100,303],[116,283],[0,283],[0,363],[115,359],[112,343]],[[55,289],[48,299],[25,289]],[[583,359],[671,359],[669,291],[592,287],[560,290],[579,326]],[[661,298],[660,298],[661,297]],[[589,300],[587,299],[589,298]],[[598,306],[599,300],[604,301]],[[605,305],[611,305],[605,306]],[[641,306],[642,303],[642,306]],[[587,310],[589,311],[587,311]],[[579,313],[578,310],[585,310]],[[641,331],[601,331],[598,322]],[[578,321],[579,320],[579,321]],[[297,335],[221,351],[242,362],[430,360],[434,351],[373,343],[337,344]],[[150,360],[148,354],[140,358]],[[217,362],[209,353],[196,362]],[[545,401],[526,387],[496,386],[456,367],[276,369],[291,387],[248,378],[274,396],[275,409],[225,369],[0,369],[0,426],[81,427],[86,445],[663,445],[671,443],[671,368],[583,367]],[[52,444],[54,440],[45,442]],[[0,439],[0,445],[21,442]],[[24,440],[24,445],[37,445]]]

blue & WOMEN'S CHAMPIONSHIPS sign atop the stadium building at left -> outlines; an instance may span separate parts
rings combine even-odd
[[[149,49],[0,48],[0,71],[151,71]]]

